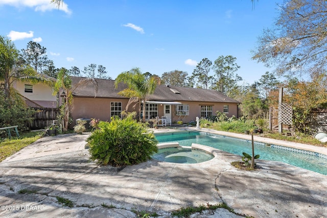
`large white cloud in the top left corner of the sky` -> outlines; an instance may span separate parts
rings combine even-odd
[[[60,4],[60,7],[58,8],[56,4],[51,3],[50,0],[0,0],[0,5],[10,5],[14,6],[16,8],[34,8],[35,11],[51,11],[54,9],[59,9],[61,11],[64,11],[66,14],[71,14],[72,11],[68,8],[68,5],[66,3]]]

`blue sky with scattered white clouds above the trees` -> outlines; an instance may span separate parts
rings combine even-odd
[[[283,0],[64,1],[0,0],[0,35],[18,50],[29,41],[46,47],[56,67],[103,65],[113,79],[132,67],[161,76],[192,74],[203,58],[237,58],[246,83],[273,71],[251,60],[257,37],[272,27]],[[212,72],[213,73],[213,72]]]

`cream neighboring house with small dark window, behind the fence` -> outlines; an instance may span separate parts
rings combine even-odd
[[[55,80],[52,77],[42,75],[43,77]],[[14,81],[15,88],[22,96],[44,108],[57,108],[57,95],[53,95],[53,90],[50,86],[31,82]]]

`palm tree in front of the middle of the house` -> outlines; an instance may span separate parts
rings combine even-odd
[[[141,121],[141,105],[143,105],[143,122],[145,122],[145,102],[148,94],[153,94],[157,85],[160,85],[160,78],[158,76],[151,76],[147,79],[145,74],[139,68],[132,68],[129,71],[122,72],[115,80],[115,88],[120,82],[125,83],[128,88],[118,92],[118,94],[129,98],[126,110],[131,103],[138,103],[139,121]]]

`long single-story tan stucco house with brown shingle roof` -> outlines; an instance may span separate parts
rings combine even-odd
[[[81,77],[72,77],[76,84]],[[97,118],[110,120],[113,115],[120,115],[126,109],[128,98],[118,94],[127,88],[119,83],[114,87],[114,80],[97,79],[99,91],[95,97],[94,85],[80,86],[74,91],[72,117]],[[158,85],[154,94],[148,96],[146,102],[146,120],[156,116],[167,116],[172,123],[182,120],[183,123],[195,121],[196,117],[216,115],[216,111],[224,112],[228,117],[238,117],[240,102],[216,90],[196,89],[178,86]],[[128,111],[138,112],[138,105],[129,106]],[[139,114],[138,114],[139,115]],[[141,114],[142,116],[142,114]]]

